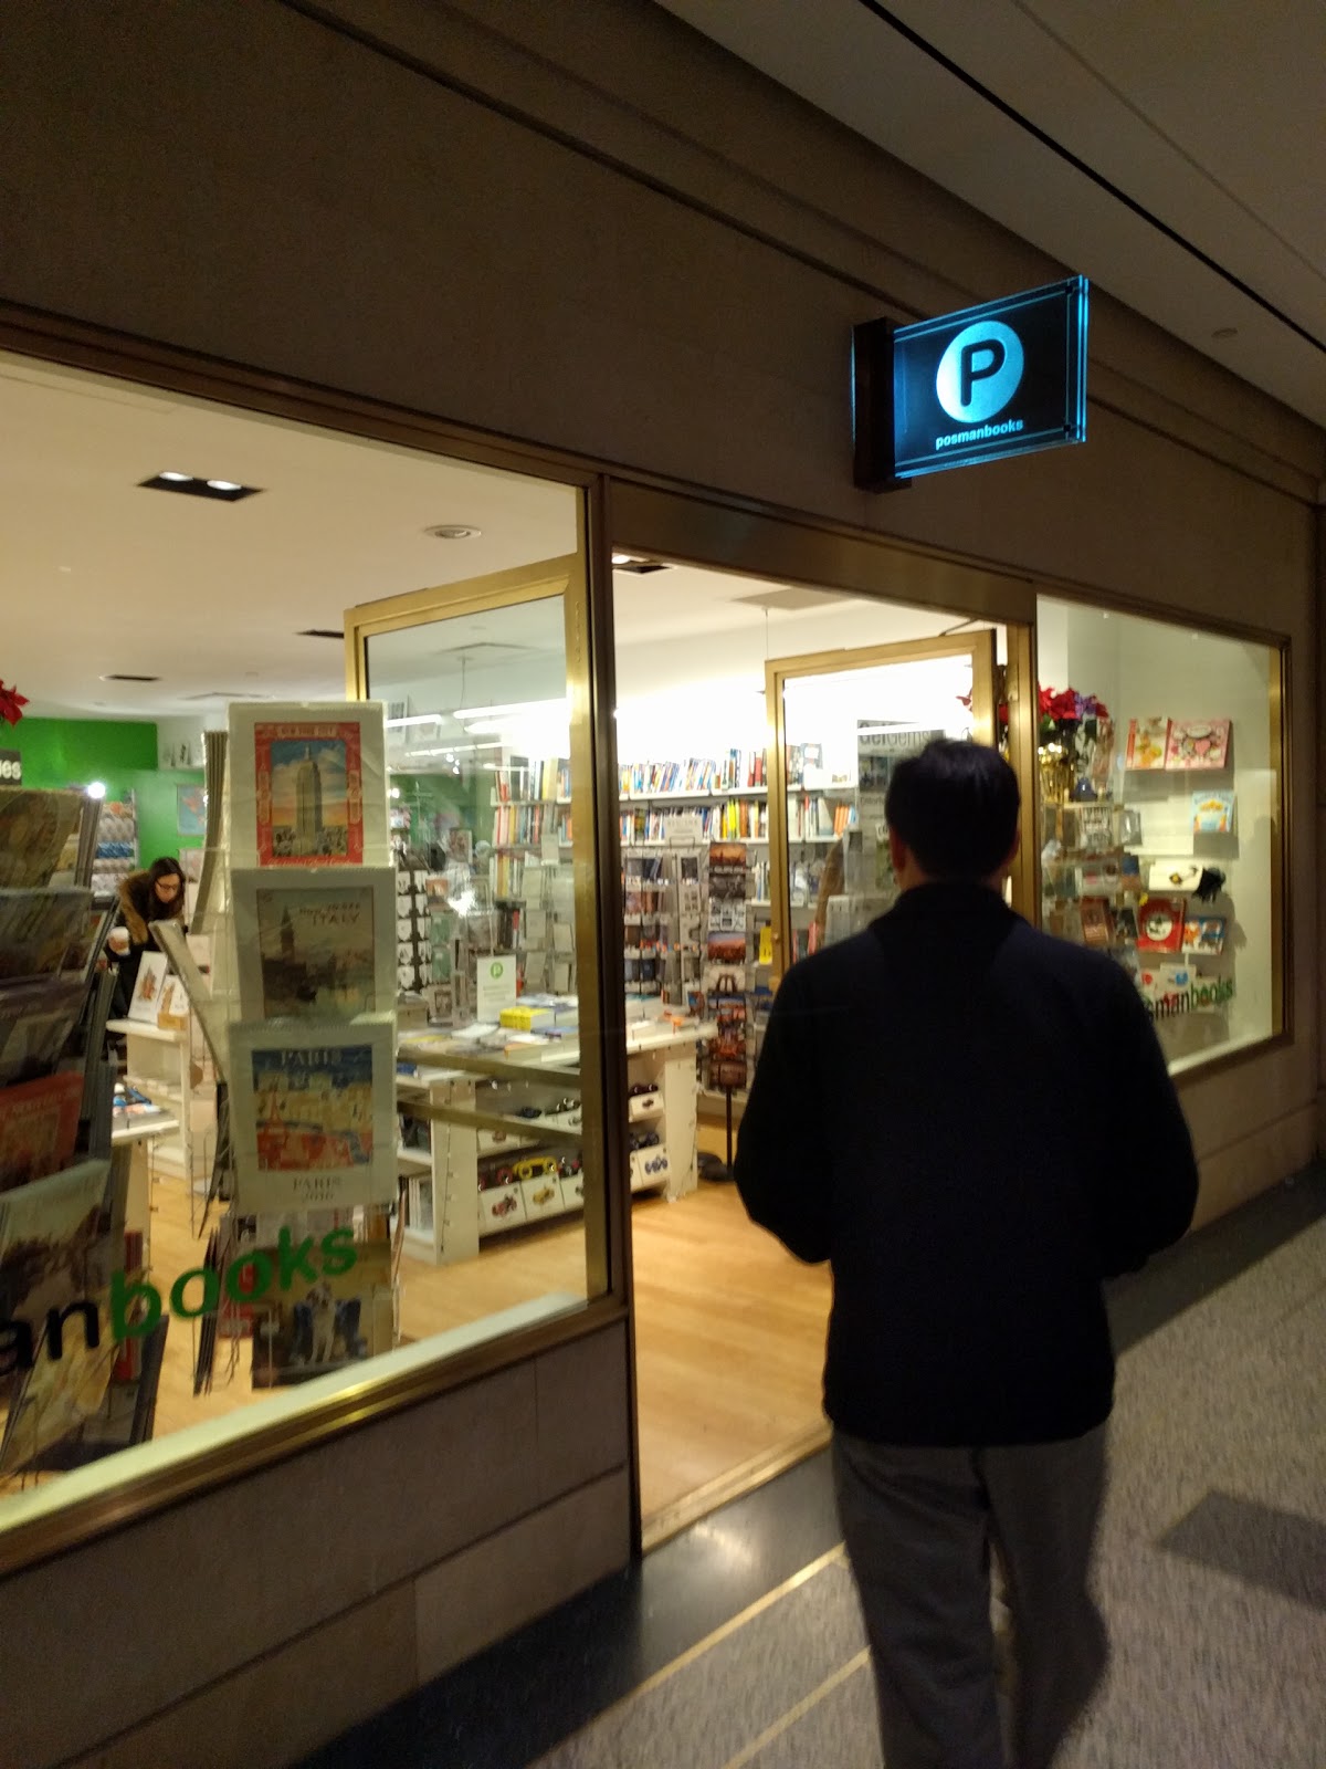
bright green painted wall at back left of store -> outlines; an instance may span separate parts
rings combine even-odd
[[[21,718],[0,729],[0,748],[23,755],[25,785],[106,782],[106,798],[133,793],[138,803],[138,858],[202,847],[175,826],[175,789],[202,785],[202,768],[157,768],[157,727],[122,718]]]

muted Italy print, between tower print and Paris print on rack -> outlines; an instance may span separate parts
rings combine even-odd
[[[244,1019],[354,1019],[396,1001],[391,867],[233,870]]]

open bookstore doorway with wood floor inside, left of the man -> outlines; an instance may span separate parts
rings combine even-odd
[[[674,1183],[631,1208],[649,1548],[827,1442],[829,1272],[748,1221],[727,1114],[739,1137],[787,966],[891,902],[893,761],[932,734],[995,739],[1022,630],[658,557],[613,566],[626,1021],[684,1022],[697,1051],[693,1141],[668,1130]],[[628,1125],[633,1173],[658,1152],[649,1130]]]

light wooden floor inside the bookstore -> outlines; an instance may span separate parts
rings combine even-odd
[[[168,1290],[200,1263],[180,1178],[152,1185],[152,1272]],[[697,1489],[737,1482],[822,1431],[820,1364],[829,1307],[826,1267],[806,1267],[751,1226],[730,1183],[688,1198],[636,1198],[631,1214],[640,1383],[640,1477],[647,1539],[682,1520]],[[423,1339],[548,1291],[585,1291],[583,1228],[495,1237],[465,1265],[401,1261],[401,1330]],[[163,1436],[242,1406],[251,1346],[217,1341],[212,1389],[193,1392],[194,1323],[173,1320],[157,1392]],[[233,1362],[232,1362],[233,1353]],[[746,1481],[748,1484],[748,1481]],[[707,1509],[707,1504],[704,1505]],[[652,1530],[649,1523],[652,1520]]]

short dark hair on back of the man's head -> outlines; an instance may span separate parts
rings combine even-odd
[[[1008,860],[1018,803],[997,750],[937,738],[893,770],[884,816],[930,877],[983,879]]]

